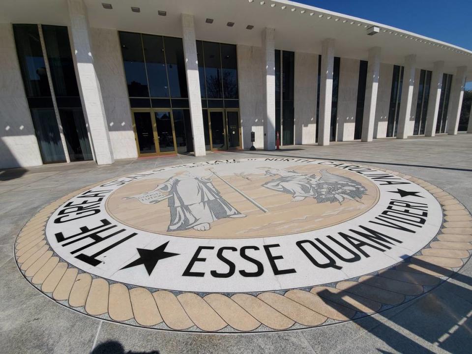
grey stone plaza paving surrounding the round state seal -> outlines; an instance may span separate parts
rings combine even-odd
[[[87,185],[158,166],[251,154],[398,171],[439,186],[471,210],[471,149],[472,135],[459,134],[0,171],[0,353],[466,353],[472,344],[471,262],[426,295],[359,320],[286,332],[197,334],[135,328],[60,306],[24,279],[13,248],[37,211]]]

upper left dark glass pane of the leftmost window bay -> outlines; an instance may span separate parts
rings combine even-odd
[[[27,97],[50,97],[37,25],[13,25],[16,50]]]

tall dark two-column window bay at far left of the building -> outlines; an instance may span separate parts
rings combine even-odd
[[[65,162],[58,118],[70,161],[91,160],[92,152],[79,96],[67,27],[13,25],[25,93],[43,163]],[[55,97],[49,86],[48,60]],[[59,117],[54,109],[56,101]]]

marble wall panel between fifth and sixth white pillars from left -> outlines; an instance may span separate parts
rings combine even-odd
[[[385,138],[387,135],[388,109],[392,89],[392,64],[380,64],[377,106],[375,109],[374,138]]]

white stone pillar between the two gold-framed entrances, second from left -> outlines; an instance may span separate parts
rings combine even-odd
[[[188,101],[192,125],[193,150],[195,156],[205,156],[205,133],[203,129],[202,97],[198,75],[197,44],[193,15],[182,14],[182,39],[185,70],[187,71]]]

